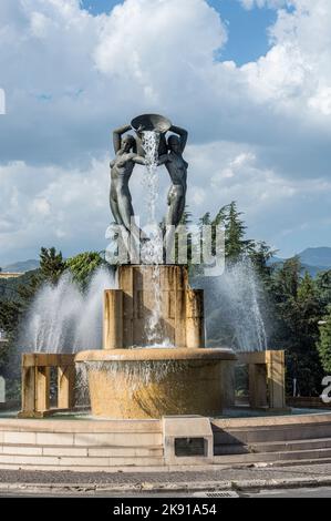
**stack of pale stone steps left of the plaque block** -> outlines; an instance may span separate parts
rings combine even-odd
[[[0,468],[101,470],[165,464],[159,420],[4,420]]]

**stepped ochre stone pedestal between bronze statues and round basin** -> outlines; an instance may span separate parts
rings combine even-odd
[[[158,344],[205,347],[204,292],[188,285],[184,266],[120,266],[118,289],[104,295],[104,349],[148,346],[156,306]]]

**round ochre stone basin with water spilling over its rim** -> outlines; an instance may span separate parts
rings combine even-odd
[[[220,415],[231,349],[114,349],[79,353],[92,415],[114,419]]]

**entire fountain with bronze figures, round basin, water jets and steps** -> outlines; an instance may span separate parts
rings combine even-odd
[[[135,135],[127,134],[131,130]],[[30,348],[22,355],[22,408],[18,418],[0,419],[0,467],[110,471],[241,462],[242,458],[256,462],[265,457],[248,442],[255,433],[258,441],[269,440],[275,425],[279,427],[275,441],[282,431],[287,439],[298,440],[303,431],[302,437],[308,437],[312,422],[323,429],[330,422],[331,432],[328,415],[318,421],[308,415],[300,420],[300,429],[293,418],[268,418],[286,410],[285,354],[263,350],[263,328],[250,289],[254,280],[239,296],[254,308],[250,316],[257,336],[245,334],[251,319],[242,320],[248,315],[241,311],[236,319],[244,327],[236,324],[236,335],[246,349],[249,338],[259,339],[254,349],[260,350],[235,354],[227,347],[206,347],[204,292],[190,287],[185,265],[164,263],[185,208],[187,136],[184,129],[157,114],[138,116],[114,131],[114,239],[118,249],[120,244],[128,249],[133,245],[135,260],[130,262],[130,251],[114,278],[106,272],[95,274],[84,295],[66,276],[38,295],[25,327],[28,336],[21,340]],[[135,223],[128,187],[135,164],[146,168],[149,227],[156,224],[157,168],[164,165],[169,173],[166,227],[161,235],[148,236]],[[229,288],[227,293],[227,302],[235,303],[237,296]],[[84,346],[87,350],[82,350]],[[235,407],[238,360],[249,366],[251,409],[246,407],[245,413]],[[84,379],[91,415],[76,408],[75,389],[85,389]],[[54,388],[56,401],[52,402]],[[252,418],[247,418],[250,410]],[[229,419],[229,411],[239,418]],[[45,419],[54,415],[54,420]],[[223,452],[225,445],[229,447]],[[272,447],[268,450],[275,451]],[[277,452],[275,460],[281,457]]]

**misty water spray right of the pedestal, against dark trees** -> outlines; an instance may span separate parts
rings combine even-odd
[[[213,280],[206,287],[207,336],[213,345],[228,345],[239,351],[266,350],[261,296],[262,288],[249,259],[228,267]]]

